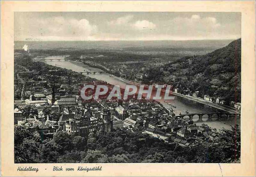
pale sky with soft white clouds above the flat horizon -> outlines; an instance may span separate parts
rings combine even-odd
[[[241,37],[239,12],[15,12],[14,40],[201,40]]]

